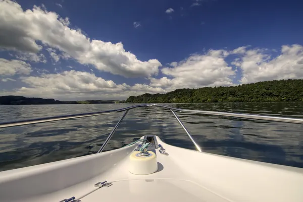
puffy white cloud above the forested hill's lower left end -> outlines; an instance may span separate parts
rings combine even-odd
[[[191,55],[183,61],[172,62],[170,65],[173,68],[161,70],[172,79],[151,79],[150,86],[171,91],[178,88],[232,85],[235,72],[224,60],[228,54],[226,50],[209,50],[204,55]]]

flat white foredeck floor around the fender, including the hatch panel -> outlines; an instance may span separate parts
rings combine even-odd
[[[184,173],[171,157],[156,151],[158,171],[149,175],[128,172],[128,159],[122,161],[108,177],[112,186],[102,187],[81,198],[82,202],[99,201],[228,201],[199,184],[186,180]]]

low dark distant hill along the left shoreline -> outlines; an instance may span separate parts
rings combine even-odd
[[[118,103],[118,100],[85,100],[85,101],[59,101],[55,99],[27,98],[23,96],[0,96],[0,105],[28,105],[28,104],[106,104]]]

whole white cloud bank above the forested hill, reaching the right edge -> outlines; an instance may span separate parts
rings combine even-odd
[[[231,64],[241,69],[240,83],[254,83],[281,79],[303,79],[303,46],[284,45],[281,54],[273,57],[268,49],[209,50],[206,54],[191,55],[180,62],[171,62],[161,72],[161,79],[150,79],[150,86],[166,91],[178,88],[200,88],[205,86],[234,85],[237,69],[232,70],[226,62],[229,55],[238,56]]]

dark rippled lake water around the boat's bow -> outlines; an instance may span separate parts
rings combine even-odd
[[[118,109],[133,104],[0,106],[0,122]],[[303,118],[303,103],[167,104],[185,109]],[[177,113],[204,152],[303,168],[303,125]],[[0,129],[0,170],[96,153],[122,113]],[[173,114],[161,108],[131,110],[104,151],[154,134],[194,149]]]

